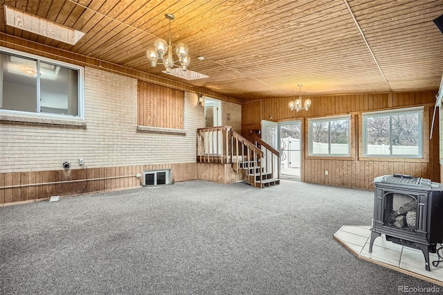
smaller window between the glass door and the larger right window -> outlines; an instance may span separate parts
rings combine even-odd
[[[351,116],[308,120],[309,156],[350,157]]]

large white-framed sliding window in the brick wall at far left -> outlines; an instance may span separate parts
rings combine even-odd
[[[0,48],[0,80],[3,113],[82,118],[80,66]]]

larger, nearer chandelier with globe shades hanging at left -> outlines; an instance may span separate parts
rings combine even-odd
[[[172,13],[165,14],[165,17],[169,19],[169,44],[163,39],[156,39],[154,47],[147,48],[146,55],[150,60],[152,67],[156,66],[157,60],[161,60],[161,63],[165,66],[166,73],[170,73],[173,66],[179,66],[178,64],[175,64],[177,60],[174,61],[174,58],[172,57],[171,45],[171,21],[172,19],[175,19],[175,17]],[[165,53],[168,54],[165,55]],[[184,43],[177,44],[175,53],[177,53],[177,56],[179,57],[178,62],[180,63],[181,70],[186,71],[191,62],[191,58],[188,55],[188,46]]]

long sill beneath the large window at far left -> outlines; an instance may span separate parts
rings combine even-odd
[[[86,127],[83,120],[65,120],[63,118],[45,118],[41,116],[17,116],[17,115],[1,115],[0,122],[6,124],[22,124],[22,125],[55,125],[60,127]]]

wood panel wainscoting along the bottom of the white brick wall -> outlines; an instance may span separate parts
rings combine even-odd
[[[52,196],[136,188],[143,171],[171,169],[172,181],[197,179],[197,163],[0,173],[0,206]]]

